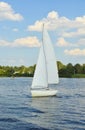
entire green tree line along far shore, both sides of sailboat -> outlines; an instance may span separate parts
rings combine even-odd
[[[68,63],[64,65],[62,62],[57,62],[59,77],[85,78],[85,64]],[[0,77],[33,77],[36,65],[33,66],[0,66]]]

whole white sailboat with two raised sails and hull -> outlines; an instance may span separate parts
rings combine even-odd
[[[42,45],[32,81],[31,96],[55,96],[57,90],[49,88],[49,84],[58,84],[58,82],[59,76],[54,49],[48,31],[43,25]]]

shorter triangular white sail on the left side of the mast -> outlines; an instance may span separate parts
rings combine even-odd
[[[47,87],[47,85],[48,83],[47,83],[45,55],[43,52],[43,46],[41,46],[31,88],[34,89],[45,88]]]

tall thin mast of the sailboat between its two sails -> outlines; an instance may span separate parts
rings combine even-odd
[[[48,83],[48,71],[47,71],[47,60],[46,60],[46,54],[45,54],[45,47],[44,47],[44,23],[43,23],[43,26],[42,26],[42,47],[43,47],[43,53],[44,53],[44,57],[45,57],[45,67],[46,67],[46,80],[47,80],[47,83]],[[46,86],[48,88],[48,84]]]

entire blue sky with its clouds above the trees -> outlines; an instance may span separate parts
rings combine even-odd
[[[84,0],[0,0],[0,65],[36,64],[43,22],[56,60],[85,63]]]

